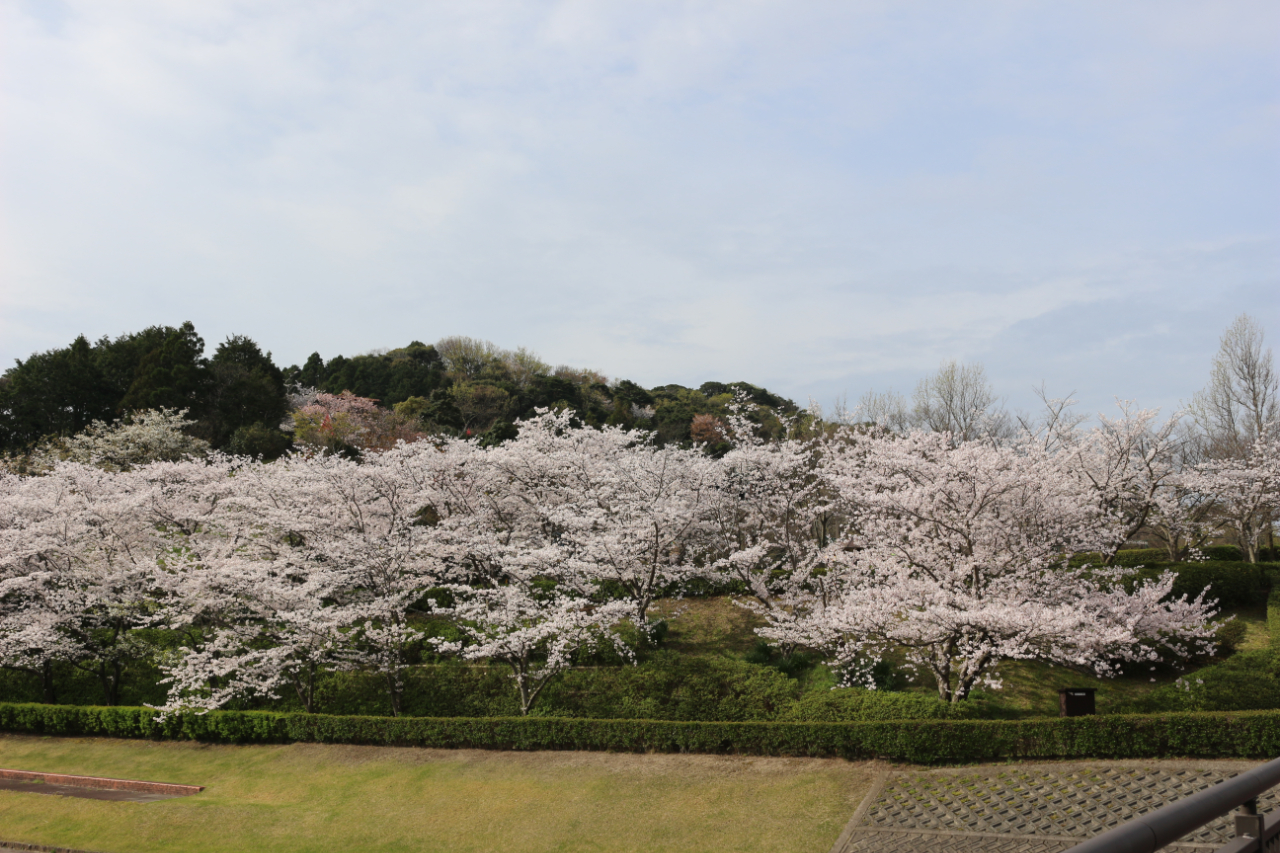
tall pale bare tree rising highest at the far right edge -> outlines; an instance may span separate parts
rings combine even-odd
[[[1247,455],[1280,420],[1280,378],[1262,338],[1261,323],[1248,314],[1235,318],[1222,333],[1208,384],[1192,398],[1192,415],[1215,456]]]

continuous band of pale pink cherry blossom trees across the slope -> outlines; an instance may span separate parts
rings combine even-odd
[[[751,415],[735,402],[721,459],[550,411],[498,446],[360,461],[195,459],[178,412],[96,425],[44,475],[0,474],[0,665],[49,679],[163,654],[174,711],[284,690],[311,711],[317,674],[360,669],[399,712],[434,647],[507,665],[529,712],[621,621],[645,629],[657,598],[704,579],[749,590],[785,649],[863,683],[905,651],[960,701],[1002,660],[1111,675],[1206,649],[1211,602],[1169,601],[1171,574],[1126,592],[1123,570],[1064,555],[1114,552],[1174,485],[1249,524],[1277,508],[1274,444],[1176,471],[1148,412],[1004,443],[800,420],[764,441]],[[456,639],[426,638],[428,613]],[[163,653],[142,630],[195,625]]]

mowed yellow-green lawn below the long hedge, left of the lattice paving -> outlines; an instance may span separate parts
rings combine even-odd
[[[183,850],[824,850],[877,767],[841,760],[0,736],[0,767],[205,785],[154,803],[0,790],[0,839]]]

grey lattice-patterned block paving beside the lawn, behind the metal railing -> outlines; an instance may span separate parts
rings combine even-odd
[[[1062,762],[901,770],[879,776],[831,853],[1061,853],[1256,767],[1251,761]],[[1280,806],[1272,790],[1260,806]],[[1231,817],[1166,849],[1215,850]]]

